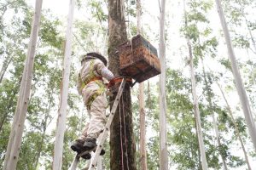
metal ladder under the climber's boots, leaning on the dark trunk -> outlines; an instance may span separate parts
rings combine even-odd
[[[118,94],[116,95],[116,98],[114,99],[113,107],[112,107],[112,110],[110,111],[110,115],[108,117],[108,122],[106,123],[102,133],[99,135],[98,144],[96,146],[96,151],[95,151],[94,156],[90,160],[90,167],[89,167],[88,170],[96,169],[96,161],[98,160],[98,157],[100,156],[100,153],[101,153],[101,150],[102,150],[102,145],[104,144],[104,142],[107,138],[109,127],[110,127],[110,125],[113,121],[113,116],[114,116],[115,111],[116,111],[116,109],[119,105],[119,99],[120,99],[121,95],[123,94],[123,90],[125,88],[125,82],[126,82],[125,78],[122,78],[122,82],[119,86]],[[94,150],[94,149],[92,149],[92,150]],[[72,162],[71,166],[68,168],[68,170],[76,170],[76,168],[78,167],[78,164],[79,164],[80,156],[82,156],[86,153],[90,153],[90,151],[92,151],[92,150],[88,150],[88,151],[85,151],[81,154],[77,154],[75,156],[75,158],[73,159],[73,162]]]

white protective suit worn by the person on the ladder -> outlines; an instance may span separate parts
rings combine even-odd
[[[87,57],[79,71],[77,88],[79,94],[83,96],[90,122],[86,123],[79,139],[84,140],[86,137],[96,139],[106,123],[108,102],[102,77],[110,81],[113,79],[113,73],[108,70],[102,60]]]

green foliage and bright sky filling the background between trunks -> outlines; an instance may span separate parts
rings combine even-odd
[[[256,49],[253,46],[253,41],[255,41],[256,21],[255,17],[252,17],[252,11],[256,6],[255,1],[224,0],[222,3],[224,4],[235,51],[240,52],[238,62],[241,74],[244,76],[245,86],[255,109]],[[68,96],[67,130],[64,138],[63,169],[67,169],[73,161],[74,153],[69,146],[79,136],[81,128],[84,126],[86,118],[88,118],[87,114],[82,114],[82,99],[76,92],[76,72],[80,66],[79,56],[92,50],[107,54],[108,48],[107,1],[79,0],[78,7],[84,18],[81,17],[79,20],[75,20],[73,26],[73,63]],[[215,25],[211,25],[212,10],[215,10],[213,7],[213,1],[187,1],[186,21],[188,26],[179,26],[180,33],[183,34],[183,37],[189,38],[195,57],[193,62],[195,65],[196,88],[199,92],[201,122],[208,166],[214,169],[222,169],[223,163],[219,156],[224,156],[224,160],[230,169],[243,168],[246,162],[242,156],[234,153],[234,148],[240,148],[240,146],[237,146],[235,122],[230,118],[229,110],[216,89],[216,82],[218,81],[224,86],[225,94],[234,96],[235,86],[231,77],[230,61],[227,56],[221,54],[224,44],[220,38],[223,38],[223,35],[218,34]],[[3,166],[4,154],[19,95],[21,74],[32,25],[32,14],[33,8],[27,5],[24,0],[2,0],[0,2],[0,168]],[[143,14],[147,14],[147,11],[143,11]],[[136,35],[136,1],[125,1],[125,17],[129,21],[127,28],[131,34],[130,36]],[[17,169],[51,169],[65,43],[63,31],[65,26],[62,22],[60,18],[52,14],[52,11],[43,11],[32,77],[32,93],[26,115],[26,127],[23,133]],[[151,31],[153,30],[149,27],[143,26],[143,37],[158,40],[158,35],[152,36]],[[172,36],[170,30],[172,30],[172,23],[170,29],[168,26],[166,30],[166,37]],[[171,48],[173,41],[177,40],[166,38],[166,44]],[[183,40],[181,42],[183,43]],[[185,43],[182,44],[182,46],[185,45]],[[173,50],[175,49],[173,48]],[[169,53],[167,52],[168,56]],[[185,51],[179,55],[186,53]],[[179,55],[176,57],[180,57]],[[191,82],[188,78],[187,68],[172,69],[167,64],[166,125],[170,167],[175,169],[201,169],[194,105],[191,97]],[[210,68],[214,70],[211,71]],[[152,81],[150,79],[146,83],[148,84],[144,93],[146,94],[147,161],[148,169],[154,170],[159,167],[159,89],[158,82],[154,79]],[[134,113],[133,123],[135,125],[134,133],[138,157],[140,125],[137,94],[137,86],[135,86],[132,91],[132,111]],[[232,99],[232,97],[229,99]],[[241,106],[235,102],[233,103],[233,101],[232,105],[241,138],[247,145],[249,156],[254,159],[255,151],[249,143],[247,126],[241,116]],[[220,145],[217,144],[213,133],[212,113],[217,118]],[[103,157],[105,169],[110,167],[108,142],[104,146],[107,150]],[[84,164],[82,162],[79,167],[83,168]],[[139,164],[140,160],[137,159],[137,167],[139,167]]]

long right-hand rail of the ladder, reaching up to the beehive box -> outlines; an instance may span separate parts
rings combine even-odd
[[[108,122],[106,123],[106,125],[104,127],[102,135],[100,135],[100,137],[99,137],[99,142],[98,142],[98,145],[97,145],[97,148],[96,148],[95,155],[92,157],[92,161],[90,161],[89,170],[95,169],[95,167],[96,167],[96,161],[98,159],[98,156],[100,156],[100,153],[101,153],[101,150],[102,150],[102,145],[104,144],[105,139],[107,138],[110,125],[113,121],[113,116],[114,116],[115,111],[116,111],[116,109],[119,105],[119,99],[120,99],[121,95],[123,94],[123,90],[125,88],[125,82],[126,82],[126,80],[125,80],[125,78],[123,78],[123,80],[122,80],[122,82],[119,86],[118,94],[117,94],[116,98],[114,99],[113,107],[112,107],[112,110],[110,111],[110,115],[108,117]]]

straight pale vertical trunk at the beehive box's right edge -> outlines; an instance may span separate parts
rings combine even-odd
[[[165,42],[166,1],[160,4],[160,169],[168,169],[166,132],[166,42]]]

